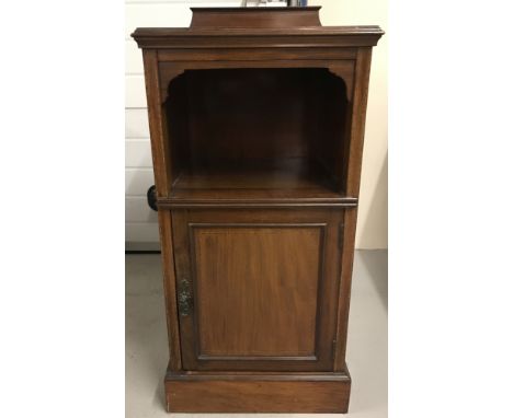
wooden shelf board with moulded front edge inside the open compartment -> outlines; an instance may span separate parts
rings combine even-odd
[[[219,164],[181,173],[159,207],[351,207],[319,165],[300,159]]]

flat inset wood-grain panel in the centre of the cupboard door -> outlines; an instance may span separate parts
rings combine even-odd
[[[324,227],[190,225],[200,356],[315,356]]]

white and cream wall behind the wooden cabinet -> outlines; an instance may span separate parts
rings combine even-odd
[[[310,0],[322,5],[323,25],[378,24],[387,31],[387,1]],[[125,196],[127,248],[158,248],[157,216],[146,204],[153,184],[142,59],[129,34],[137,26],[189,26],[190,7],[240,5],[240,1],[126,0]],[[362,169],[356,247],[387,247],[387,35],[374,48]]]

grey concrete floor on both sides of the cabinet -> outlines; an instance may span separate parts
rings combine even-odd
[[[163,400],[168,342],[160,255],[127,255],[125,260],[126,417],[169,418]],[[356,252],[347,337],[346,360],[353,379],[347,417],[387,417],[387,252]],[[223,414],[175,415],[216,418]],[[239,415],[246,416],[230,417]]]

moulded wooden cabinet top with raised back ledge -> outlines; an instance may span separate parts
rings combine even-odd
[[[376,45],[384,34],[379,26],[322,26],[320,7],[310,8],[191,8],[190,27],[138,27],[132,36],[139,46],[148,40],[183,37],[252,37],[265,36],[343,36],[366,38],[367,45]],[[360,45],[362,43],[360,42]]]

